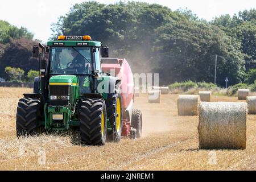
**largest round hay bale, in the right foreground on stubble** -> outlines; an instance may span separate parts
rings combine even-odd
[[[245,102],[201,102],[199,105],[199,148],[246,148]]]

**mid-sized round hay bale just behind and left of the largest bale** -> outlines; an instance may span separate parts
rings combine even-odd
[[[178,115],[197,115],[199,96],[180,95],[177,99]]]

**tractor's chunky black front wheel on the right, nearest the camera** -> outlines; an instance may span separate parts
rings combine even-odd
[[[86,98],[81,102],[81,140],[90,145],[104,145],[106,142],[107,115],[105,101],[100,98]]]

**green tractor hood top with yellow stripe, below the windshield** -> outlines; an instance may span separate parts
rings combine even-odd
[[[78,85],[78,78],[75,75],[56,75],[49,79],[49,85]]]

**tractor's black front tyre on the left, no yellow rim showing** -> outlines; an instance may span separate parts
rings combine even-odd
[[[16,135],[32,135],[40,129],[40,100],[38,98],[21,98],[16,113]]]

